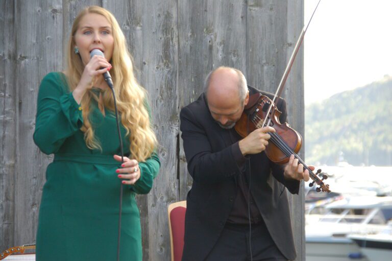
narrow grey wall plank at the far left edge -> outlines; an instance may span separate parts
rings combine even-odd
[[[0,251],[14,243],[15,28],[14,1],[0,3]]]

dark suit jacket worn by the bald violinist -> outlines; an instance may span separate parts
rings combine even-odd
[[[250,95],[258,90],[249,86]],[[271,93],[262,94],[272,98]],[[286,121],[286,104],[279,100],[280,122]],[[183,261],[204,260],[216,243],[229,217],[237,192],[240,169],[233,157],[229,130],[212,118],[205,95],[180,113],[182,139],[193,178],[187,195]],[[238,145],[237,145],[238,146]],[[285,181],[282,165],[271,162],[264,152],[250,155],[251,193],[279,250],[287,259],[296,258],[286,186],[299,191],[299,181]],[[249,175],[249,171],[247,173]],[[244,250],[245,251],[245,250]]]

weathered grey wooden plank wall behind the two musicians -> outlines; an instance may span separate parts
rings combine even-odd
[[[149,91],[162,168],[148,196],[138,197],[144,260],[169,260],[167,205],[184,200],[187,174],[179,112],[197,99],[220,65],[275,92],[303,26],[303,0],[0,0],[0,250],[35,242],[46,165],[34,145],[42,77],[63,69],[72,21],[88,5],[110,10],[124,31]],[[291,126],[304,133],[303,55],[286,84]],[[305,259],[303,196],[293,196],[298,249]]]

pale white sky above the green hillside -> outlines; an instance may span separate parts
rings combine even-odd
[[[318,0],[304,0],[306,24]],[[392,77],[392,1],[321,0],[304,38],[305,104]]]

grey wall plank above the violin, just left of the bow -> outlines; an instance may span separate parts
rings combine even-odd
[[[248,2],[248,84],[275,93],[286,65],[287,1]]]

